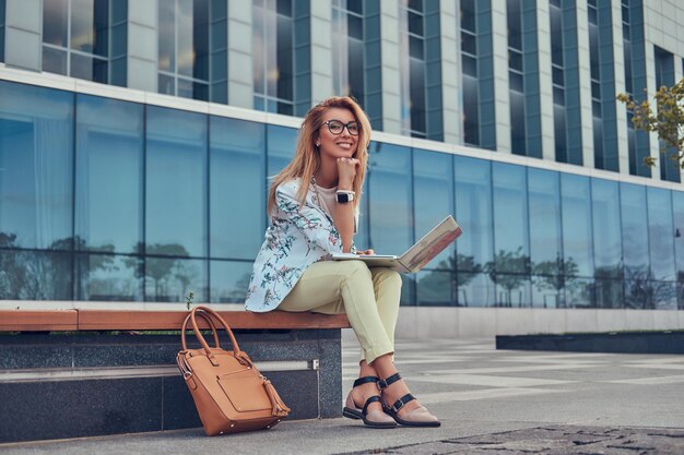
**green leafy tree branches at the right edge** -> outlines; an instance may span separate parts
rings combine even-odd
[[[672,87],[662,86],[656,92],[656,109],[648,98],[639,104],[626,93],[618,94],[617,100],[624,103],[633,113],[632,122],[638,130],[658,133],[658,139],[664,144],[661,153],[668,155],[668,148],[674,149],[670,152],[669,158],[684,168],[684,79]],[[647,156],[644,164],[653,166],[656,159]]]

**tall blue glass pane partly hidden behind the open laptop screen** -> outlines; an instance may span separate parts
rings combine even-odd
[[[437,223],[453,213],[452,157],[448,154],[413,149],[413,197],[415,237],[420,239]],[[437,255],[429,267],[453,270],[455,244]],[[420,286],[418,278],[418,286]],[[418,296],[420,300],[420,296]]]

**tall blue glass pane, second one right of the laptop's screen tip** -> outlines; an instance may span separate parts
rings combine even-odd
[[[529,273],[527,177],[522,166],[492,164],[497,273]],[[488,267],[492,268],[494,264]]]

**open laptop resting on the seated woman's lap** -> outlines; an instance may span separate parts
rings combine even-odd
[[[389,267],[399,273],[416,273],[461,234],[463,234],[461,227],[449,215],[400,256],[392,254],[358,255],[354,253],[333,253],[331,260],[361,260],[368,267]]]

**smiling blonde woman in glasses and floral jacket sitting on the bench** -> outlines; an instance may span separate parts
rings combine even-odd
[[[362,360],[344,416],[374,428],[438,427],[392,361],[400,275],[369,270],[363,261],[327,261],[331,253],[373,254],[357,251],[353,242],[369,141],[368,118],[352,98],[328,98],[309,110],[295,157],[269,191],[271,224],[245,307],[346,313]]]

